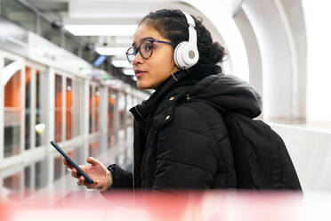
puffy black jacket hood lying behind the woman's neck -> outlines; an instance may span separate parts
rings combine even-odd
[[[189,92],[191,97],[213,102],[230,112],[256,118],[262,112],[262,98],[253,86],[235,76],[222,73],[203,78]]]

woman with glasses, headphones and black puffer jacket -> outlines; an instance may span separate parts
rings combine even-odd
[[[134,116],[133,173],[117,165],[106,168],[88,158],[88,164],[81,168],[94,184],[85,183],[73,168],[78,185],[102,192],[115,188],[236,188],[230,139],[222,115],[211,105],[195,100],[213,102],[254,118],[261,113],[261,98],[245,82],[222,74],[216,64],[222,62],[223,47],[213,43],[200,20],[194,19],[195,24],[191,24],[190,19],[180,10],[160,10],[141,20],[127,57],[133,64],[137,86],[156,91],[130,110]],[[177,45],[188,40],[193,48],[188,49],[190,58],[185,62],[174,53]],[[198,52],[194,48],[197,45]]]

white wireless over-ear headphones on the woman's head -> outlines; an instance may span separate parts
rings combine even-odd
[[[174,49],[174,63],[181,70],[190,69],[198,62],[198,45],[196,23],[192,16],[186,12],[182,12],[189,23],[189,41],[183,41]]]

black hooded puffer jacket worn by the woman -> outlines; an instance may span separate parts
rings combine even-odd
[[[112,188],[236,188],[230,139],[222,115],[206,99],[250,118],[261,113],[252,86],[223,75],[219,66],[181,70],[157,88],[134,116],[134,168],[110,165]],[[219,74],[218,74],[219,73]]]

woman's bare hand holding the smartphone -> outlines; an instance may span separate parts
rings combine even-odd
[[[87,183],[84,176],[78,176],[77,169],[72,167],[67,160],[63,159],[64,165],[72,170],[71,176],[78,179],[78,185],[85,185],[87,189],[101,190],[104,184],[106,184],[107,168],[105,168],[99,160],[96,160],[93,157],[88,157],[86,162],[88,164],[79,166],[79,168],[81,168],[87,176],[90,176],[90,178],[93,179],[93,184]]]

